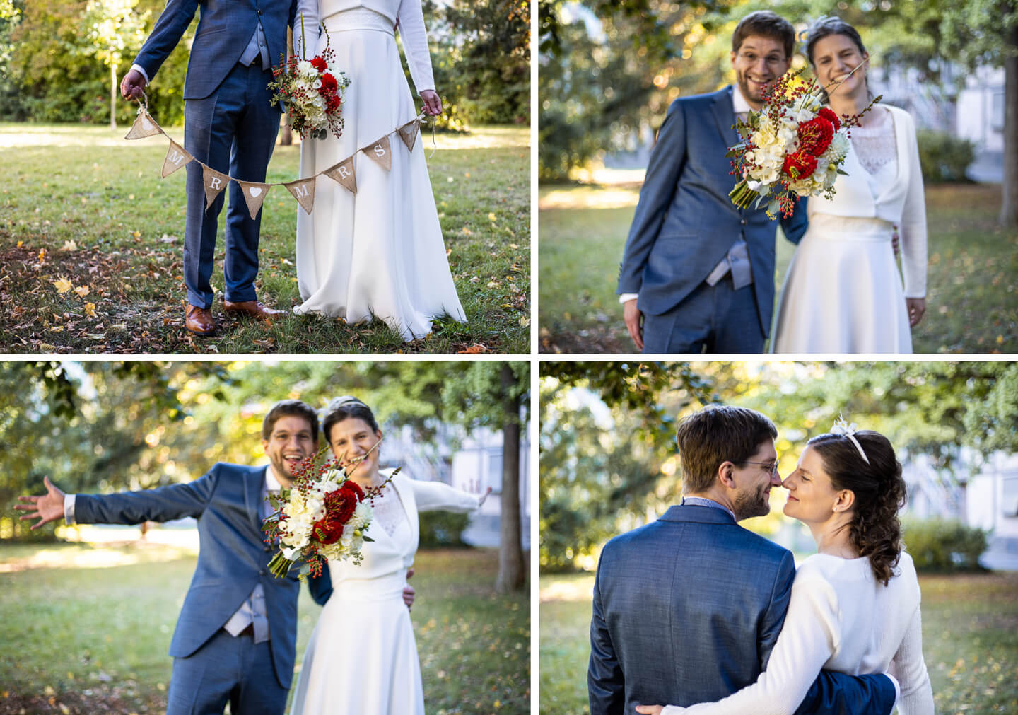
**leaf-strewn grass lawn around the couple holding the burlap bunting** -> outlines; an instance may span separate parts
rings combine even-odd
[[[158,117],[157,117],[158,119]],[[126,127],[0,123],[0,352],[529,352],[529,129],[440,134],[429,161],[449,264],[466,312],[404,343],[375,320],[293,318],[265,325],[223,315],[220,216],[215,337],[183,328],[184,172],[160,177],[169,142],[127,142]],[[167,128],[183,142],[180,127]],[[421,138],[431,154],[432,136]],[[399,146],[396,142],[396,146]],[[298,177],[299,147],[277,147],[267,181]],[[300,301],[297,203],[275,186],[263,208],[259,295]],[[65,292],[58,291],[57,281]]]

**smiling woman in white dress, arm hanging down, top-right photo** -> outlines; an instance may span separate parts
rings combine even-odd
[[[869,55],[858,33],[817,20],[806,53],[831,86]],[[868,103],[866,67],[832,91],[831,108],[857,114]],[[926,209],[915,126],[909,114],[876,105],[851,130],[833,200],[811,198],[809,227],[789,266],[772,352],[911,352],[910,328],[925,312]],[[904,286],[892,250],[901,236]]]

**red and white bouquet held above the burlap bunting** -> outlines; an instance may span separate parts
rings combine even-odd
[[[303,17],[301,16],[301,35]],[[329,46],[310,60],[291,55],[288,60],[272,68],[273,80],[269,89],[275,91],[272,104],[285,104],[290,115],[290,126],[300,139],[325,139],[343,133],[343,92],[350,86],[345,72],[336,69],[335,53]],[[303,44],[301,43],[301,47]]]

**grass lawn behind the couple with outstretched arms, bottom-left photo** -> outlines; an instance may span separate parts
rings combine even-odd
[[[421,551],[414,565],[428,713],[528,713],[528,589],[495,594],[492,549]],[[193,570],[167,546],[0,542],[0,713],[163,712]],[[320,611],[301,589],[298,663]]]

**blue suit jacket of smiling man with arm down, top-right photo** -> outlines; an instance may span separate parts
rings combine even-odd
[[[774,312],[777,222],[764,209],[736,209],[736,183],[725,156],[739,143],[732,87],[675,100],[651,154],[619,271],[619,293],[639,293],[643,313],[678,306],[710,275],[741,236],[749,249],[753,290],[764,334]],[[805,200],[782,219],[789,240],[806,230]]]

